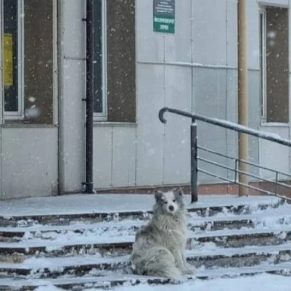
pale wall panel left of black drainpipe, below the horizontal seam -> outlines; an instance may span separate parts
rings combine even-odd
[[[65,59],[60,118],[60,166],[62,190],[82,189],[85,182],[85,62]]]

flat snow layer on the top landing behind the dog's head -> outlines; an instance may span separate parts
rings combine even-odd
[[[114,201],[114,203],[112,203]],[[248,205],[254,207],[260,202],[274,204],[279,201],[271,196],[238,197],[236,195],[201,195],[194,207]],[[189,204],[190,195],[185,195]],[[37,216],[83,213],[114,213],[127,211],[147,211],[152,209],[152,194],[84,194],[52,197],[35,197],[4,200],[0,204],[1,216]]]

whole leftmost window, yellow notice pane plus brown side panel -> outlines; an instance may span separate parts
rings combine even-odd
[[[7,122],[53,122],[53,3],[2,1],[2,93]]]

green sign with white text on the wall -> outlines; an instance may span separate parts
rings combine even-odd
[[[154,0],[154,31],[175,33],[175,0]]]

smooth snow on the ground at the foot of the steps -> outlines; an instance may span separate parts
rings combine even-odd
[[[290,290],[291,277],[279,275],[257,275],[249,277],[239,277],[234,279],[214,279],[188,281],[182,285],[147,285],[130,286],[125,284],[121,287],[113,288],[112,291],[287,291]],[[86,289],[87,291],[97,291],[97,289]],[[38,287],[35,291],[62,291],[53,286]]]

